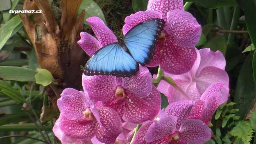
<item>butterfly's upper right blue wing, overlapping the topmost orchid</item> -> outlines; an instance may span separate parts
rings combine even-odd
[[[146,20],[133,27],[124,38],[131,56],[141,65],[149,64],[155,52],[156,41],[163,30],[164,20]]]

